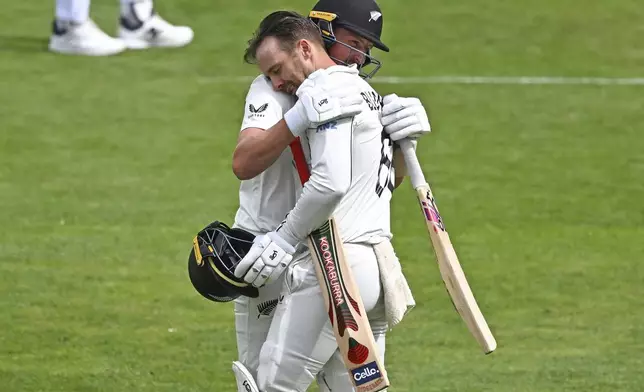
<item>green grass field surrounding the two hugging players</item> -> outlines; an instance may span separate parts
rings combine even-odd
[[[115,31],[116,0],[92,15]],[[0,24],[0,390],[234,391],[232,305],[193,291],[192,236],[232,222],[245,42],[308,1],[159,0],[195,42],[46,52],[53,0]],[[642,77],[644,8],[382,0],[380,76]],[[644,389],[644,86],[378,84],[419,96],[420,158],[499,342],[454,312],[408,183],[395,246],[418,306],[388,337],[392,392]]]

